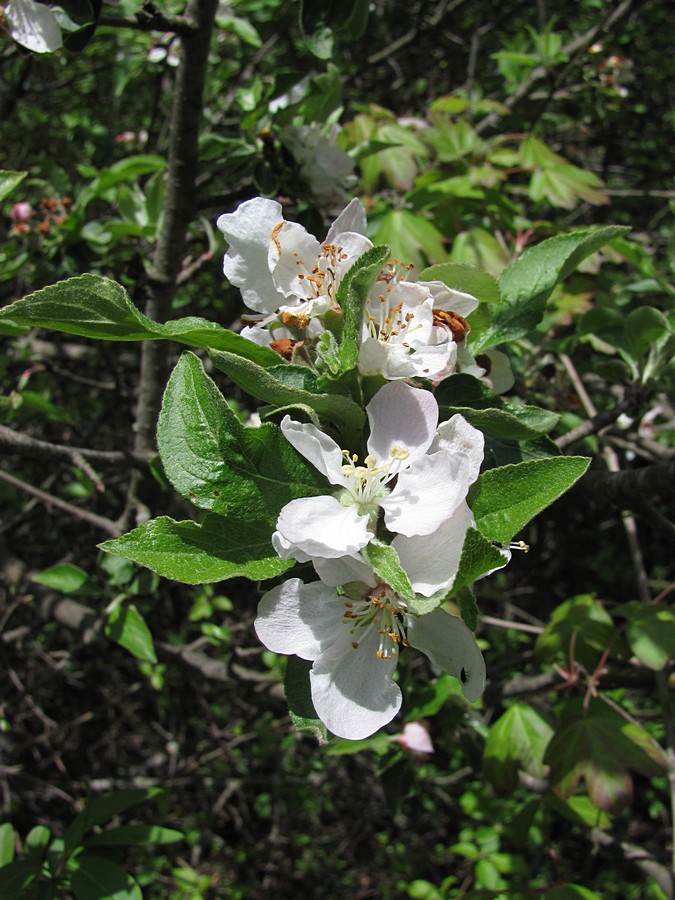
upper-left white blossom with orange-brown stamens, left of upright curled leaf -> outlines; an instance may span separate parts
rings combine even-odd
[[[358,200],[345,207],[323,242],[302,225],[287,222],[281,205],[263,197],[247,200],[217,224],[230,245],[223,271],[258,314],[249,317],[252,324],[242,331],[256,343],[312,335],[312,326],[320,332],[313,320],[339,309],[340,281],[372,247]]]

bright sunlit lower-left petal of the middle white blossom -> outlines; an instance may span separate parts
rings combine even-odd
[[[291,500],[279,513],[277,532],[290,548],[288,559],[298,550],[310,558],[334,559],[351,556],[374,537],[368,517],[356,506],[343,506],[331,496],[300,497]]]

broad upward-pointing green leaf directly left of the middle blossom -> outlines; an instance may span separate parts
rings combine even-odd
[[[202,509],[273,524],[290,500],[325,493],[323,477],[277,425],[239,422],[192,353],[169,380],[157,442],[168,479]]]

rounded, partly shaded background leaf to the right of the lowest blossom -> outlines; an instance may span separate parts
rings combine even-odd
[[[555,608],[537,638],[535,651],[540,659],[550,663],[558,656],[567,657],[573,648],[575,660],[590,671],[613,634],[612,618],[604,606],[591,594],[580,594]]]

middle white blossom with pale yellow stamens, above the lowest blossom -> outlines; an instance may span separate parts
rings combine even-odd
[[[283,507],[272,535],[282,559],[354,558],[375,537],[380,510],[390,532],[429,535],[464,503],[483,460],[480,431],[459,415],[437,428],[433,395],[402,381],[380,388],[366,412],[362,463],[314,425],[283,419],[287,440],[338,490]]]

